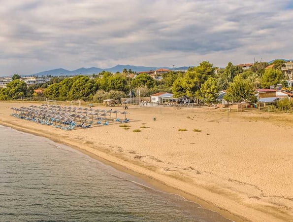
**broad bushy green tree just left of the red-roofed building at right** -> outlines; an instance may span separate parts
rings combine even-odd
[[[252,95],[254,95],[253,85],[247,79],[236,75],[233,82],[229,83],[224,98],[227,101],[243,102],[244,100],[249,100]]]

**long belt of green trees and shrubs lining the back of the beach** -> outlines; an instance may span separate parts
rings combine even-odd
[[[92,76],[53,77],[48,83],[30,86],[20,80],[19,74],[14,74],[7,87],[0,88],[0,100],[43,97],[58,101],[102,103],[105,99],[120,100],[128,97],[130,90],[139,90],[140,97],[163,91],[173,93],[175,98],[187,96],[196,103],[210,106],[216,103],[219,92],[226,90],[224,98],[229,102],[256,103],[254,95],[257,88],[269,88],[278,83],[287,87],[286,76],[281,72],[284,63],[283,60],[275,60],[273,68],[265,69],[268,63],[255,62],[250,69],[243,70],[231,62],[226,68],[219,69],[203,61],[197,67],[190,67],[187,72],[170,71],[162,74],[162,80],[156,80],[146,73],[131,78],[134,72],[124,69],[122,73],[116,74],[102,71]],[[39,89],[38,92],[36,89]],[[291,106],[288,102],[277,103],[278,109],[283,111],[290,110]]]

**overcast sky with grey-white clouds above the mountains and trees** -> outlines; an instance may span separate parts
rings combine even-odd
[[[0,76],[293,58],[293,0],[0,0]]]

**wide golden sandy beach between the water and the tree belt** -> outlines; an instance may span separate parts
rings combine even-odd
[[[64,131],[10,115],[30,105],[0,102],[0,124],[76,148],[233,221],[292,221],[293,114],[256,110],[228,119],[219,109],[129,106],[129,130],[113,121]]]

